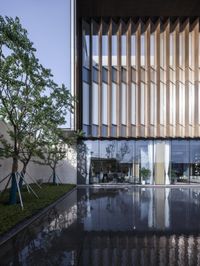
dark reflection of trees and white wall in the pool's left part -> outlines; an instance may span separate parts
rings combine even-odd
[[[62,212],[52,208],[13,240],[14,253],[2,265],[9,265],[10,260],[14,265],[75,265],[71,261],[75,259],[76,249],[70,246],[64,232],[76,219],[76,204]]]

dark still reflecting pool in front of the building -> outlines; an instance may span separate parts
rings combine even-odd
[[[78,188],[2,244],[0,265],[200,265],[200,188]]]

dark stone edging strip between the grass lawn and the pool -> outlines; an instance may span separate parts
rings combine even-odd
[[[29,226],[31,223],[33,223],[36,219],[40,218],[42,215],[44,215],[46,212],[48,212],[51,208],[56,206],[58,203],[60,203],[62,200],[64,200],[69,194],[71,194],[74,190],[77,189],[77,186],[72,188],[70,191],[66,192],[64,195],[59,197],[56,201],[48,205],[47,207],[44,207],[43,209],[39,210],[36,214],[33,214],[29,218],[25,218],[21,222],[14,225],[8,232],[0,236],[0,246],[3,245],[6,241],[14,237],[16,234],[18,234],[20,231],[22,231],[24,228]]]

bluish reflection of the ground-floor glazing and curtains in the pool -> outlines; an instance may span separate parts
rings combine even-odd
[[[78,218],[86,231],[200,230],[200,194],[193,188],[113,188],[92,189],[88,193],[87,199],[84,194],[79,194],[78,199]],[[196,218],[191,221],[192,215]]]

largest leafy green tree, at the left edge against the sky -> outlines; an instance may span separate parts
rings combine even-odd
[[[0,16],[0,118],[8,124],[10,137],[2,136],[1,143],[4,157],[13,161],[7,183],[11,180],[10,204],[16,203],[18,163],[24,149],[37,146],[34,138],[43,125],[63,124],[74,102],[66,87],[59,87],[51,71],[39,63],[35,51],[19,19]]]

